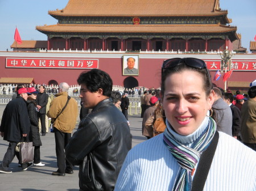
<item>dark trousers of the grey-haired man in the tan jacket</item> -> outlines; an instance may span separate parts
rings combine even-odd
[[[55,144],[56,144],[56,156],[57,166],[59,173],[65,173],[65,169],[73,170],[73,165],[65,159],[65,146],[68,145],[68,141],[71,138],[71,133],[63,133],[54,128]]]

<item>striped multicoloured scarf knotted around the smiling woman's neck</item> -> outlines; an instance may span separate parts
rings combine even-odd
[[[215,131],[216,123],[209,117],[208,128],[205,128],[200,137],[192,143],[191,147],[187,147],[177,141],[174,135],[170,133],[167,126],[166,131],[164,131],[163,141],[180,165],[174,188],[172,189],[173,191],[191,191],[192,175],[195,171],[195,166],[197,162],[199,162],[202,152],[210,145]]]

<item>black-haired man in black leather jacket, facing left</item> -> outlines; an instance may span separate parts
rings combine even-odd
[[[67,160],[80,165],[80,190],[114,190],[118,173],[131,149],[129,125],[109,98],[112,79],[102,70],[81,73],[80,98],[83,107],[93,109],[82,118],[65,148]]]

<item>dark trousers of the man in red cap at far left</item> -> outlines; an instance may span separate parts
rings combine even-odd
[[[3,156],[3,161],[1,163],[0,169],[4,171],[9,171],[9,164],[13,162],[15,155],[18,155],[18,152],[15,151],[16,145],[16,142],[9,142],[9,146],[7,148],[5,156]]]

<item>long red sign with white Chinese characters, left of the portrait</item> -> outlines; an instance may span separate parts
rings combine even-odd
[[[6,67],[47,69],[97,69],[98,60],[60,58],[6,58]]]

